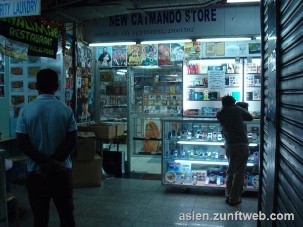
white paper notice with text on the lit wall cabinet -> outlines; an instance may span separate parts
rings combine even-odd
[[[209,91],[221,91],[225,89],[225,71],[208,72],[208,89]]]

